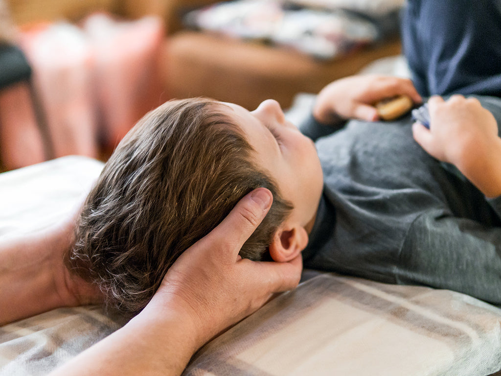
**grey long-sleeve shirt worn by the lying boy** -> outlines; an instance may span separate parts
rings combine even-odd
[[[501,99],[479,99],[499,128]],[[501,304],[501,198],[428,155],[411,123],[352,120],[317,140],[324,193],[304,265]],[[326,133],[313,117],[302,130]]]

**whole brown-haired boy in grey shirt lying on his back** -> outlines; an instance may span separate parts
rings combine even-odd
[[[322,120],[322,114],[365,111],[373,119],[371,107],[361,104],[396,93],[419,101],[408,80],[350,77],[320,93],[315,113]],[[500,101],[482,100],[501,119]],[[275,209],[242,257],[259,259],[268,251],[275,261],[288,261],[310,234],[306,267],[450,288],[501,303],[499,203],[482,194],[501,194],[501,182],[493,180],[496,169],[486,184],[474,176],[476,164],[487,168],[501,155],[497,124],[474,99],[433,98],[430,112],[432,131],[437,119],[440,127],[465,128],[440,139],[438,149],[459,148],[442,159],[463,169],[478,189],[414,142],[408,117],[352,121],[319,140],[322,193],[315,146],[285,120],[277,102],[265,101],[253,112],[205,99],[168,102],[147,115],[108,161],[84,208],[70,264],[100,286],[110,307],[135,313],[179,252],[262,185],[274,194]],[[466,115],[474,116],[473,127]],[[413,129],[418,140],[439,139]],[[479,140],[486,146],[472,153],[470,141]]]

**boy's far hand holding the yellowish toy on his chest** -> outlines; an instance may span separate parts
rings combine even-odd
[[[374,104],[396,95],[408,95],[415,103],[422,99],[411,80],[377,75],[346,77],[323,88],[313,109],[313,116],[323,124],[340,119],[378,120]]]

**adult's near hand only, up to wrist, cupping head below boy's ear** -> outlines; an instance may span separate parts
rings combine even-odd
[[[254,262],[238,256],[242,244],[272,204],[264,188],[246,195],[211,233],[185,251],[168,270],[146,306],[147,313],[176,309],[189,316],[203,344],[265,304],[291,290],[301,277],[302,259]]]

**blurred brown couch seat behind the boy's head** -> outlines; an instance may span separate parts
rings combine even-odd
[[[248,18],[251,23],[255,21],[253,16]],[[163,50],[163,84],[167,94],[175,98],[208,96],[249,110],[273,98],[289,108],[297,93],[317,93],[329,82],[355,74],[371,61],[398,55],[400,47],[398,35],[393,35],[346,56],[322,60],[290,46],[177,29]]]

